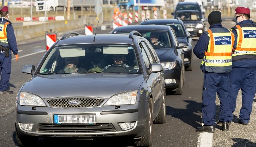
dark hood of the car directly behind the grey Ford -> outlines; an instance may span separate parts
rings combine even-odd
[[[175,49],[155,49],[160,62],[170,61],[170,57],[174,54]]]

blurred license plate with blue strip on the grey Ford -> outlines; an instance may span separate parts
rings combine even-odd
[[[83,124],[95,125],[96,114],[83,115],[53,115],[54,124]]]

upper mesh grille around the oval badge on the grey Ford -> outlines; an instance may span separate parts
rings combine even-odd
[[[80,103],[69,104],[68,102],[72,100],[77,100]],[[57,108],[86,108],[86,107],[98,107],[102,104],[104,99],[98,98],[56,98],[56,99],[49,99],[46,100],[50,107],[57,107]]]

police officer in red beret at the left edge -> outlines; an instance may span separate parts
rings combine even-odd
[[[0,10],[0,94],[13,94],[13,91],[7,90],[11,74],[11,51],[18,60],[18,48],[13,27],[9,19],[9,10],[7,6]],[[11,50],[11,51],[10,51]]]

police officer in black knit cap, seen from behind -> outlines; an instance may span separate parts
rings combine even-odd
[[[193,52],[203,59],[200,69],[204,73],[203,84],[203,126],[197,132],[215,132],[216,92],[220,99],[220,122],[223,131],[229,130],[230,121],[230,80],[232,70],[231,52],[234,34],[222,27],[221,12],[212,11],[208,16],[210,27],[199,38]]]

